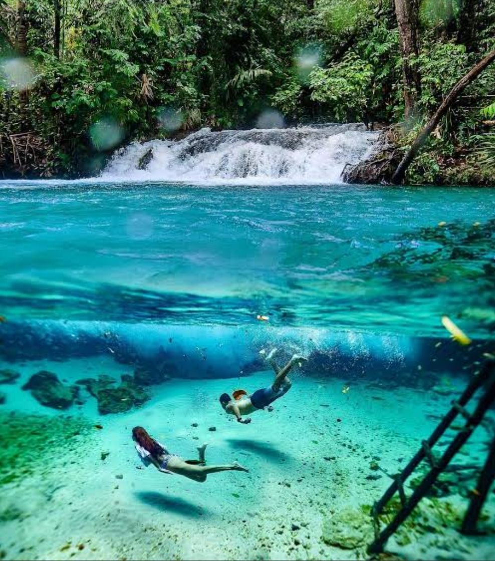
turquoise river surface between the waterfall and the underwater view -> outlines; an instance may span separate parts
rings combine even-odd
[[[238,326],[262,314],[441,336],[447,314],[481,338],[495,324],[491,190],[2,187],[7,318]]]

